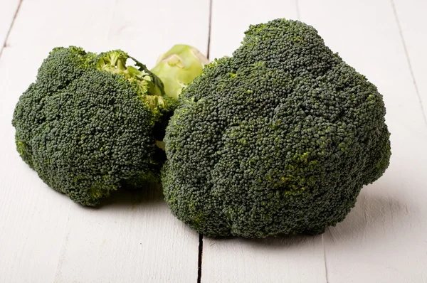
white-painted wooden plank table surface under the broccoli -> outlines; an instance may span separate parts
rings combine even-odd
[[[0,0],[0,282],[426,283],[426,14],[426,0]],[[325,234],[199,237],[159,191],[83,208],[16,153],[12,113],[51,48],[121,48],[152,67],[186,43],[213,59],[279,17],[315,26],[387,108],[389,169]]]

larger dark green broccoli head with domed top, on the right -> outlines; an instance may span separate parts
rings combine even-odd
[[[210,237],[323,233],[389,166],[375,85],[312,26],[250,26],[181,93],[167,127],[164,196]]]

